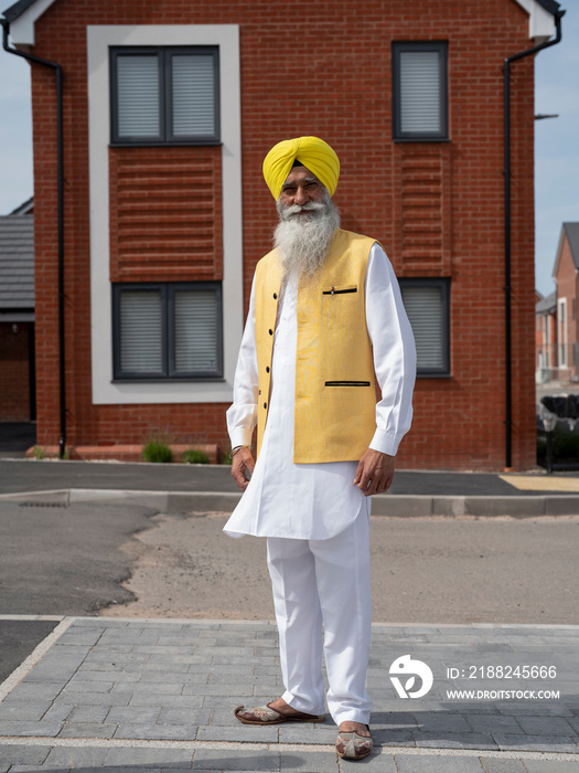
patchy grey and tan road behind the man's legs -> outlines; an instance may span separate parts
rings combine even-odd
[[[0,615],[271,618],[265,540],[225,519],[0,502]],[[577,517],[373,518],[374,618],[579,624],[578,538]]]

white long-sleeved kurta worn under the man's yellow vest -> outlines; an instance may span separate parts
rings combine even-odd
[[[414,336],[390,262],[379,246],[369,252],[365,283],[366,326],[382,390],[371,448],[394,456],[410,427],[416,374]],[[368,508],[354,486],[356,462],[293,464],[293,401],[298,340],[298,282],[278,301],[271,395],[255,470],[224,531],[229,537],[285,537],[324,540],[339,534]],[[255,336],[255,279],[227,411],[232,447],[250,445],[257,421],[258,371]],[[369,512],[369,509],[368,509]]]

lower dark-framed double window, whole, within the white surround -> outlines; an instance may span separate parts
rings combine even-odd
[[[219,283],[119,284],[112,293],[115,379],[222,378]]]

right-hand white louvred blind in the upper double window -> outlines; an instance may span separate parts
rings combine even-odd
[[[212,55],[172,57],[174,137],[215,134],[215,72]]]

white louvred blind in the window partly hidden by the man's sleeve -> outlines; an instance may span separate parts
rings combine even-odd
[[[442,295],[437,286],[406,285],[400,288],[416,341],[419,370],[443,370]]]

